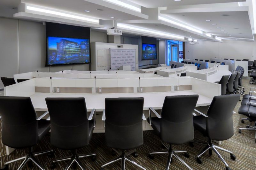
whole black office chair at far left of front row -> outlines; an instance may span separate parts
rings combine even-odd
[[[33,147],[50,131],[50,121],[42,118],[48,114],[44,113],[37,118],[35,109],[30,97],[10,97],[0,96],[0,113],[2,116],[2,143],[15,149],[28,148],[28,154],[24,157],[5,162],[3,170],[8,170],[9,164],[23,160],[18,170],[23,168],[28,162],[28,166],[35,163],[44,170],[36,156],[50,153],[53,150],[33,153]]]

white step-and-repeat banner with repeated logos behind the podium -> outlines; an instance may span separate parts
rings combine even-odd
[[[136,71],[136,50],[110,49],[111,70],[121,66],[131,66],[131,71]]]

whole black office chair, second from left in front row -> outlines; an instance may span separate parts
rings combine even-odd
[[[72,155],[66,158],[53,160],[50,168],[56,167],[56,162],[69,160],[66,169],[73,164],[85,169],[80,158],[91,157],[96,160],[96,153],[77,154],[77,149],[89,145],[95,127],[95,109],[88,118],[85,99],[80,98],[45,98],[50,114],[51,145],[64,150],[71,150]],[[92,120],[94,118],[94,120]]]

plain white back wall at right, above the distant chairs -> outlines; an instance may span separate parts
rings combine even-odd
[[[186,59],[249,59],[256,60],[256,42],[223,40],[224,42],[198,41],[199,44],[185,43]]]

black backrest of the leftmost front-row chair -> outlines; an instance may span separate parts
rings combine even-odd
[[[35,146],[38,121],[30,97],[0,96],[2,143],[11,148]]]

